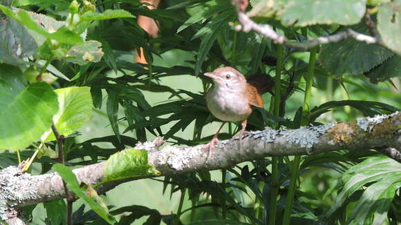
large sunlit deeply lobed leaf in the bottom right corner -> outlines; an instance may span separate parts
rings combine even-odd
[[[374,184],[369,184],[375,182]],[[364,186],[369,186],[364,188]],[[362,197],[357,199],[357,206],[353,208],[348,220],[356,219],[358,224],[366,223],[369,215],[375,215],[375,221],[383,222],[383,216],[388,211],[395,195],[395,191],[401,186],[401,164],[384,155],[376,155],[364,160],[364,162],[349,168],[342,175],[339,182],[339,193],[335,204],[328,211],[333,215],[335,211],[345,206],[348,199],[357,192],[363,190]],[[382,223],[377,224],[382,224]],[[349,223],[347,223],[349,224]],[[367,224],[372,224],[367,222]]]

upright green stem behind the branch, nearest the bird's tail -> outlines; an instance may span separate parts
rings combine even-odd
[[[283,52],[282,45],[277,45],[277,65],[276,65],[276,79],[274,83],[274,115],[280,115],[280,102],[281,102],[281,66],[283,66]],[[280,124],[277,123],[276,128]],[[277,196],[279,195],[279,159],[272,157],[272,182],[271,182],[271,195],[269,207],[269,225],[276,224],[277,214]]]

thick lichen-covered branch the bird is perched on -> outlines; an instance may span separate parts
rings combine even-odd
[[[149,164],[161,175],[176,175],[199,170],[227,168],[240,162],[263,159],[268,156],[308,155],[335,150],[401,149],[401,113],[365,117],[351,122],[322,126],[305,126],[296,130],[266,128],[250,132],[243,139],[225,140],[216,144],[209,157],[204,145],[166,146],[162,150],[160,139],[138,144],[136,148],[148,150]],[[398,152],[399,153],[399,152]],[[392,157],[394,154],[389,154]],[[395,154],[397,155],[397,154]],[[399,155],[398,155],[399,156]],[[73,170],[79,182],[97,186],[104,193],[135,179],[132,177],[101,184],[105,162]],[[15,166],[0,171],[0,219],[11,222],[5,212],[18,211],[21,206],[48,202],[66,197],[62,178],[57,173],[30,175]],[[12,224],[12,223],[10,223]]]

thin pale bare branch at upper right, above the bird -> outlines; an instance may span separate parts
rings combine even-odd
[[[260,25],[258,23],[255,23],[244,12],[238,11],[238,19],[241,25],[235,26],[234,30],[237,31],[243,30],[244,32],[250,32],[250,30],[254,30],[259,34],[272,39],[274,43],[286,44],[287,46],[298,48],[300,50],[308,50],[310,48],[318,46],[319,44],[335,43],[344,39],[348,39],[350,37],[352,37],[357,41],[364,41],[366,43],[379,43],[380,45],[382,45],[382,41],[380,41],[380,37],[378,37],[378,35],[377,37],[371,37],[369,35],[364,35],[359,32],[356,32],[355,30],[352,29],[347,29],[344,32],[338,32],[337,34],[330,35],[328,37],[317,37],[313,39],[308,39],[308,41],[304,43],[296,43],[288,40],[283,35],[279,35],[277,32],[273,30],[271,26],[267,24]],[[370,17],[369,18],[366,17],[366,21],[368,21],[369,19]],[[373,29],[372,23],[369,23],[371,25],[371,27],[369,27],[370,29]]]

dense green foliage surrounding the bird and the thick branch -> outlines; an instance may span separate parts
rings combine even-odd
[[[369,8],[382,46],[346,39],[321,46],[316,55],[279,48],[254,32],[234,31],[232,24],[238,21],[231,1],[162,1],[157,10],[139,1],[10,3],[0,5],[0,166],[17,165],[17,155],[27,159],[37,150],[39,173],[57,171],[67,188],[84,200],[73,213],[75,224],[135,224],[140,219],[144,224],[268,224],[274,190],[275,224],[289,219],[282,216],[287,199],[293,205],[291,224],[401,222],[400,166],[373,150],[301,157],[299,177],[292,179],[299,187],[293,200],[288,197],[293,157],[277,159],[277,184],[272,183],[270,159],[222,170],[222,179],[205,171],[156,179],[163,186],[160,196],[168,195],[167,190],[169,197],[179,193],[174,213],[142,202],[107,206],[107,199],[88,184],[79,184],[69,168],[106,160],[104,182],[150,177],[158,171],[147,164],[144,151],[133,149],[138,141],[155,136],[164,136],[169,144],[209,141],[209,124],[220,121],[207,110],[203,92],[211,82],[203,73],[222,65],[247,76],[281,71],[281,102],[274,104],[270,94],[264,95],[265,108],[249,118],[251,130],[297,128],[303,119],[303,124],[317,124],[398,110],[400,0],[250,1],[254,21],[269,23],[297,42],[348,28],[371,35],[364,23]],[[156,39],[138,26],[140,15],[157,21]],[[140,48],[148,65],[132,62]],[[283,63],[278,64],[281,49]],[[169,55],[174,61],[167,62]],[[315,68],[309,62],[313,57]],[[171,84],[180,79],[202,88]],[[305,104],[310,110],[300,103],[310,94],[308,80],[313,81],[311,101]],[[151,103],[158,94],[158,104]],[[278,115],[273,115],[274,105],[280,106]],[[113,133],[80,139],[77,131],[93,114],[102,117],[100,130],[109,126]],[[68,167],[56,163],[59,144],[52,124],[64,136]],[[239,128],[239,123],[229,123],[219,137],[230,138]],[[24,211],[40,223],[32,218],[32,208]],[[45,203],[44,211],[47,224],[66,224],[64,201]]]

